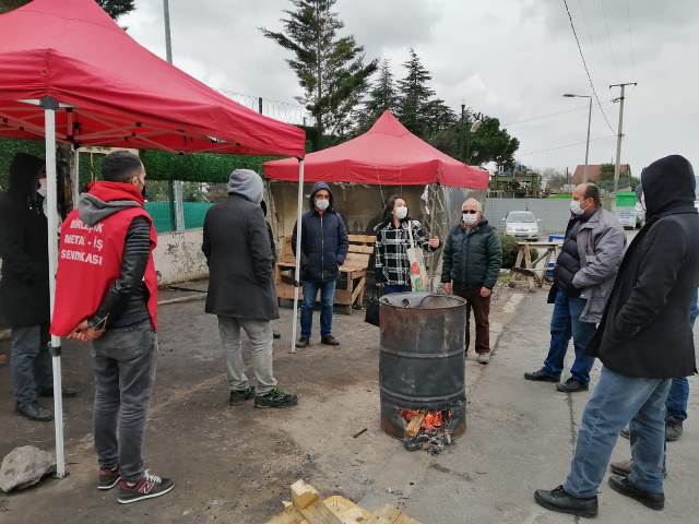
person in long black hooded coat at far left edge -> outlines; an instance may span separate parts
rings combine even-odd
[[[15,412],[37,421],[54,418],[37,401],[54,394],[45,196],[44,160],[17,153],[10,166],[10,189],[0,195],[0,320],[12,327]],[[63,396],[74,395],[63,390]]]

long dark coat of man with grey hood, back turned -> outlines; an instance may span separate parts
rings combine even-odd
[[[211,207],[202,251],[209,264],[208,313],[279,319],[270,236],[258,204],[233,193]]]

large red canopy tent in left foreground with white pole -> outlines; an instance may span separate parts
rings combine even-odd
[[[303,130],[209,88],[134,41],[94,0],[34,0],[0,15],[0,136],[46,140],[47,207],[57,209],[56,141],[170,152],[294,155]],[[300,163],[303,179],[303,162]],[[54,308],[58,224],[48,213]],[[64,475],[60,338],[51,338],[57,473]]]

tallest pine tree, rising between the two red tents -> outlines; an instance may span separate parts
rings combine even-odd
[[[344,135],[354,108],[368,87],[377,60],[365,63],[364,47],[354,36],[339,37],[344,27],[332,11],[336,0],[292,0],[283,32],[261,28],[264,36],[294,52],[286,60],[298,76],[304,96],[298,100],[316,120],[316,147],[323,134]]]

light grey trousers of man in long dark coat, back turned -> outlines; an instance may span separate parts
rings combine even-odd
[[[248,377],[245,374],[240,330],[244,330],[250,340],[257,394],[265,395],[276,386],[272,365],[272,326],[268,320],[218,317],[218,332],[226,355],[228,385],[230,391],[246,390],[250,386]]]

